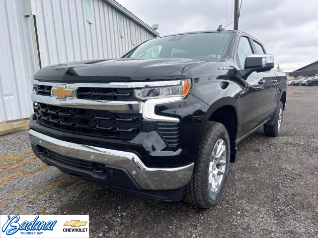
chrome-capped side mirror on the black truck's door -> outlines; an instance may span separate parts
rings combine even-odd
[[[247,55],[245,59],[245,70],[264,72],[274,68],[274,57],[272,55]]]

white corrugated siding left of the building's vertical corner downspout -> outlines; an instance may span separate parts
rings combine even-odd
[[[0,22],[0,121],[28,118],[36,68],[30,19],[22,16],[20,1],[1,0]]]

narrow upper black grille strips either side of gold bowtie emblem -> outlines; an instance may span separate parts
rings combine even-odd
[[[34,85],[35,94],[51,96],[52,86]],[[135,101],[132,88],[78,88],[76,97],[86,100]]]

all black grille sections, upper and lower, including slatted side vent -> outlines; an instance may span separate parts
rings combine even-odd
[[[34,85],[35,93],[51,95],[52,86]],[[131,88],[93,88],[80,87],[78,99],[135,101]],[[40,125],[79,135],[95,136],[106,139],[130,141],[139,132],[157,131],[173,149],[179,146],[179,123],[143,121],[142,114],[121,114],[103,110],[76,109],[36,103],[35,119]]]

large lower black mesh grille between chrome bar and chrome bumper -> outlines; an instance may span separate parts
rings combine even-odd
[[[40,125],[80,135],[130,141],[142,129],[141,114],[120,114],[43,103],[36,103],[34,112]]]

